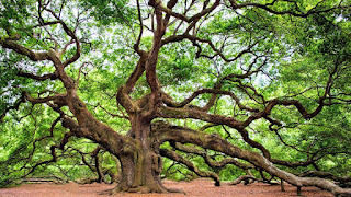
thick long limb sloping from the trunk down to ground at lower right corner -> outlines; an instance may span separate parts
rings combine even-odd
[[[272,162],[270,162],[265,157],[260,153],[242,150],[237,146],[217,137],[216,135],[205,135],[203,132],[192,130],[184,127],[174,127],[174,126],[162,126],[155,127],[156,135],[160,143],[162,141],[171,141],[176,140],[181,143],[193,143],[201,146],[206,149],[212,149],[218,152],[223,152],[233,158],[242,159],[245,161],[250,162],[251,164],[264,170],[272,176],[282,178],[287,183],[291,183],[297,187],[302,186],[316,186],[319,188],[327,189],[335,195],[351,195],[351,189],[341,188],[332,182],[322,178],[307,178],[307,177],[298,177],[288,172],[282,171],[278,169]]]

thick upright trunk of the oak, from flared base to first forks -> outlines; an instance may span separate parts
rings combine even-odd
[[[159,148],[152,147],[150,138],[150,123],[139,119],[132,119],[129,136],[134,138],[135,148],[133,152],[117,154],[121,161],[120,184],[109,190],[109,194],[117,192],[131,193],[168,193],[160,181],[162,159],[159,155]]]

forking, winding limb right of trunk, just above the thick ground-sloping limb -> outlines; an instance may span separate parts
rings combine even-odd
[[[220,91],[220,90],[207,90],[207,89],[204,89],[204,90],[196,91],[189,99],[186,99],[183,102],[179,103],[178,106],[174,103],[172,103],[170,100],[167,100],[167,97],[165,99],[165,101],[166,101],[165,103],[167,105],[173,106],[173,107],[174,106],[176,107],[183,107],[185,104],[190,103],[194,97],[196,97],[200,93],[204,93],[204,92],[229,94],[229,95],[231,95],[231,97],[234,97],[234,100],[239,102],[239,100],[234,94],[230,94],[230,92]],[[254,94],[260,95],[257,92],[254,92]],[[278,104],[288,105],[288,103],[291,101],[292,100],[272,100],[272,101],[268,102],[268,104],[265,105],[265,108],[262,109],[262,111],[251,109],[251,108],[239,106],[240,109],[247,109],[249,112],[250,111],[254,112],[253,114],[249,115],[248,118],[246,120],[244,120],[244,121],[238,121],[235,118],[229,118],[229,117],[225,117],[225,116],[220,116],[220,115],[212,115],[212,114],[208,114],[208,113],[204,113],[204,112],[199,111],[196,107],[189,107],[189,108],[163,107],[162,108],[163,111],[161,111],[161,117],[167,117],[167,118],[171,118],[171,117],[195,118],[195,119],[201,119],[201,120],[204,120],[204,121],[207,121],[207,123],[212,123],[212,124],[227,125],[227,126],[229,126],[231,128],[237,129],[239,131],[239,134],[242,136],[242,139],[246,142],[248,142],[251,147],[261,150],[263,155],[270,160],[270,158],[271,158],[270,157],[270,152],[261,143],[256,142],[254,140],[250,139],[250,137],[248,135],[248,131],[245,128],[248,127],[256,119],[260,119],[260,118],[264,118],[264,117],[269,118],[268,116],[271,114],[271,111],[275,105],[278,105]],[[308,114],[307,111],[303,107],[303,105],[298,101],[294,100],[294,105],[298,106],[297,108],[299,109],[299,112],[302,113],[302,116],[304,118],[316,116],[316,114],[318,114],[321,111],[319,107],[317,107],[317,109],[315,112]],[[320,158],[317,157],[317,158],[314,158],[314,159],[309,159],[306,162],[297,162],[297,163],[292,163],[292,162],[286,162],[286,161],[281,161],[281,160],[274,160],[273,163],[287,165],[287,166],[306,166],[306,165],[314,164]]]

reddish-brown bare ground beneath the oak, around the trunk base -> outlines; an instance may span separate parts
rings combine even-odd
[[[239,184],[229,186],[223,183],[220,187],[215,187],[211,179],[196,179],[192,182],[163,181],[166,187],[182,189],[183,194],[117,194],[123,197],[292,197],[297,196],[296,187],[285,184],[285,190],[281,187],[267,184],[254,183],[251,185]],[[1,188],[0,197],[103,197],[99,193],[113,188],[115,185],[88,184],[78,185],[69,183],[57,184],[25,184],[20,187]],[[316,187],[303,187],[302,196],[305,197],[332,197],[328,192]]]

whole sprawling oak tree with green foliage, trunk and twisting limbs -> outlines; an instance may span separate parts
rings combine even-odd
[[[19,121],[49,114],[50,135],[33,146],[55,130],[60,142],[25,174],[87,138],[121,163],[112,194],[174,192],[160,182],[162,158],[219,186],[215,171],[212,169],[235,165],[267,182],[264,173],[350,196],[340,187],[350,178],[324,172],[327,158],[350,162],[349,8],[337,0],[2,0],[3,128],[41,106]],[[298,176],[302,167],[314,171]]]

